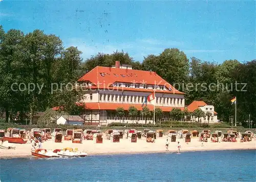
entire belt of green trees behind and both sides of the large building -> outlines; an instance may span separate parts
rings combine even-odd
[[[165,49],[159,55],[148,55],[142,62],[123,51],[98,53],[83,61],[78,49],[64,48],[59,37],[40,30],[24,34],[19,30],[5,32],[1,26],[0,111],[6,112],[11,119],[17,112],[19,119],[23,119],[26,113],[33,116],[35,111],[58,105],[73,113],[77,108],[72,103],[82,94],[79,90],[69,92],[66,87],[60,90],[59,84],[74,83],[95,66],[112,66],[118,60],[121,64],[131,64],[133,69],[155,71],[186,93],[186,105],[194,100],[214,105],[222,121],[229,122],[230,117],[234,117],[234,104],[231,105],[230,100],[237,96],[237,121],[248,120],[249,114],[251,120],[256,121],[256,60],[243,63],[223,60],[218,64],[195,57],[189,59],[184,52],[174,48]],[[26,85],[26,92],[13,91],[13,83],[24,83],[21,88]],[[35,87],[29,83],[34,83]],[[17,89],[18,84],[13,88]],[[28,86],[34,88],[30,93]]]

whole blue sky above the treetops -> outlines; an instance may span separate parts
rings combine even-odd
[[[0,0],[5,31],[44,30],[74,45],[84,59],[128,52],[136,61],[165,48],[223,62],[256,58],[255,1],[8,1]]]

